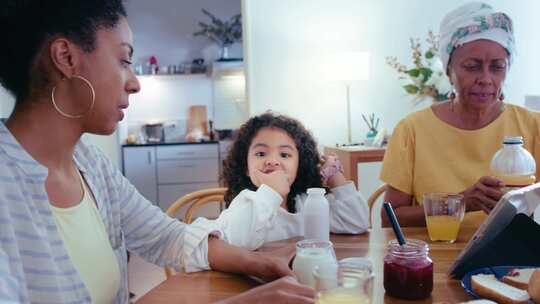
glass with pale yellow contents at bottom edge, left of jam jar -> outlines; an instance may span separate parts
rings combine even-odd
[[[313,271],[313,277],[317,304],[371,303],[374,277],[371,261],[366,258],[318,265]]]

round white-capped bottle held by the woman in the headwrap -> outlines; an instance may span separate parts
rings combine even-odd
[[[504,191],[534,184],[536,162],[523,148],[523,137],[505,136],[503,147],[491,159],[491,172],[505,183]]]

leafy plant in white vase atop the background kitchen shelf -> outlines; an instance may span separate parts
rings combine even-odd
[[[242,42],[242,15],[237,14],[223,21],[209,11],[202,9],[211,23],[199,22],[200,30],[193,36],[204,36],[217,43],[221,48],[220,59],[229,58],[229,47],[235,42]]]

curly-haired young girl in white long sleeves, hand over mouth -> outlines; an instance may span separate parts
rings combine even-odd
[[[322,160],[322,165],[320,162]],[[265,113],[239,130],[224,166],[228,209],[216,220],[225,241],[251,250],[304,235],[305,192],[330,188],[330,231],[358,234],[369,225],[368,206],[346,181],[335,155],[319,157],[300,122]]]

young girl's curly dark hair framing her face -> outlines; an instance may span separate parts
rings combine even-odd
[[[248,170],[247,158],[251,141],[263,128],[277,128],[287,132],[298,149],[298,172],[287,196],[287,210],[295,213],[294,199],[296,195],[306,192],[308,188],[322,187],[317,143],[311,133],[298,120],[271,112],[250,118],[238,130],[236,140],[223,165],[223,180],[225,186],[228,187],[225,193],[225,203],[229,207],[232,200],[244,189],[257,190],[257,186],[251,182],[246,174]]]

